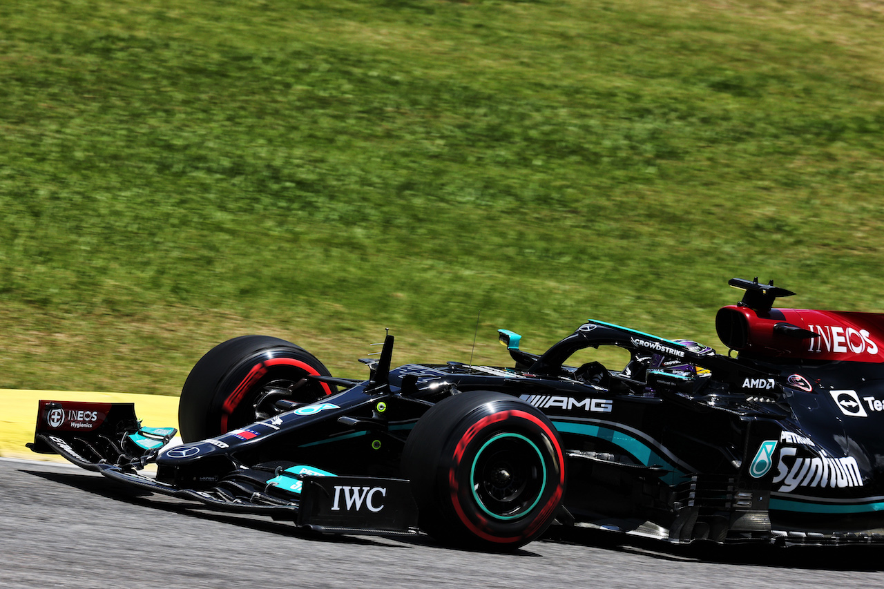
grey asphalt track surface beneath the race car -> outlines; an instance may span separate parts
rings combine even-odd
[[[880,549],[671,550],[568,534],[498,555],[426,537],[316,537],[143,495],[56,463],[0,459],[0,587],[789,587],[884,584]]]

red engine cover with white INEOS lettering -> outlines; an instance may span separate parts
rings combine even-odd
[[[806,337],[809,334],[799,329],[819,337]],[[756,311],[728,305],[716,315],[715,330],[724,345],[749,356],[884,363],[884,314],[880,313]]]

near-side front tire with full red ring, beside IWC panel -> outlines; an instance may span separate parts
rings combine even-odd
[[[423,531],[458,546],[521,547],[545,532],[565,493],[559,433],[527,402],[492,391],[433,406],[401,466]]]

